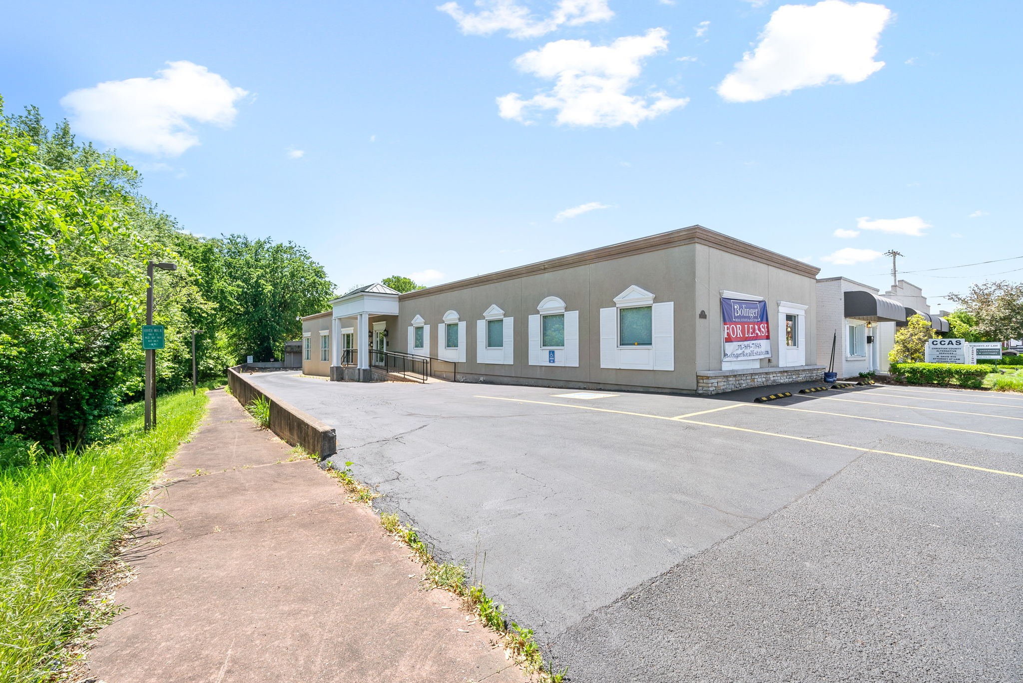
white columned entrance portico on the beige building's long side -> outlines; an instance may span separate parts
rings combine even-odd
[[[330,302],[330,379],[370,381],[369,352],[387,351],[397,329],[398,292],[379,282]]]

